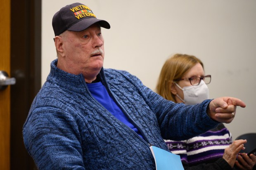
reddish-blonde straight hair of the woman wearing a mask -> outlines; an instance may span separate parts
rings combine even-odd
[[[171,85],[175,80],[183,78],[195,64],[204,64],[197,57],[186,54],[175,54],[164,63],[156,85],[156,92],[167,100],[174,101],[175,95],[171,94]]]

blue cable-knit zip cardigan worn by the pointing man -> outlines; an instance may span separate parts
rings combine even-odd
[[[126,71],[101,69],[109,95],[145,138],[116,119],[90,94],[83,75],[51,63],[23,127],[24,144],[40,170],[152,170],[149,145],[184,140],[217,126],[206,114],[210,100],[195,106],[165,100]]]

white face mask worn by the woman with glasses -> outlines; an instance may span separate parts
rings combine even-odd
[[[201,80],[199,85],[185,86],[181,88],[177,83],[175,83],[180,90],[183,90],[184,100],[176,94],[176,96],[187,105],[193,105],[201,103],[202,101],[209,99],[209,89],[207,85]]]

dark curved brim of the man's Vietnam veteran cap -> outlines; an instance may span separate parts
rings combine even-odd
[[[110,25],[107,21],[104,20],[100,20],[97,18],[85,18],[81,21],[78,21],[77,23],[75,23],[74,25],[72,25],[71,27],[69,27],[67,30],[69,31],[83,31],[86,28],[90,27],[92,24],[95,23],[99,23],[101,27],[103,28],[110,28]]]

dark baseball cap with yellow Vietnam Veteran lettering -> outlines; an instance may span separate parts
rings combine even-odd
[[[78,2],[66,5],[57,11],[52,18],[52,28],[55,36],[66,30],[83,31],[94,23],[99,23],[103,28],[110,28],[107,21],[97,19],[88,6]]]

